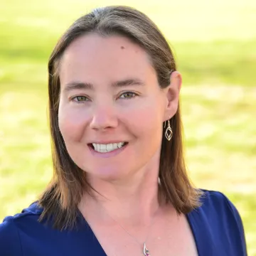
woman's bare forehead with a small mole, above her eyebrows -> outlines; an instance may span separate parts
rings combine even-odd
[[[68,46],[60,61],[60,82],[130,76],[147,80],[155,78],[156,73],[146,51],[124,36],[81,36]]]

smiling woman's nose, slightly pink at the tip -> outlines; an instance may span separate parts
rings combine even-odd
[[[105,130],[117,127],[117,113],[112,105],[97,105],[92,112],[90,128]]]

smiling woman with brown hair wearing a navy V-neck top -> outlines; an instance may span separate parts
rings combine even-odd
[[[246,255],[235,206],[186,174],[181,74],[141,12],[82,16],[48,63],[54,177],[0,225],[1,255]]]

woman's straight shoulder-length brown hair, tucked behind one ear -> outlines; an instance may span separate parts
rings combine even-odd
[[[41,220],[53,218],[55,228],[73,228],[78,216],[78,203],[83,191],[93,189],[86,181],[85,171],[70,158],[58,127],[60,79],[58,67],[65,49],[86,33],[102,36],[122,35],[139,44],[151,57],[159,86],[170,84],[171,72],[176,70],[173,53],[159,28],[142,12],[126,6],[107,6],[78,18],[60,38],[48,63],[48,95],[50,132],[52,137],[53,180],[43,192],[39,204],[43,206]],[[200,206],[201,191],[193,188],[186,174],[183,159],[180,107],[170,119],[173,137],[164,136],[161,144],[159,179],[166,203],[172,203],[177,213],[189,213]]]

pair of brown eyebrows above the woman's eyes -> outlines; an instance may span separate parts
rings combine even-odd
[[[139,79],[129,78],[125,80],[119,80],[117,82],[112,82],[112,87],[125,87],[128,85],[144,85],[144,82]],[[90,82],[68,82],[65,84],[65,92],[71,90],[94,90],[92,83]]]

